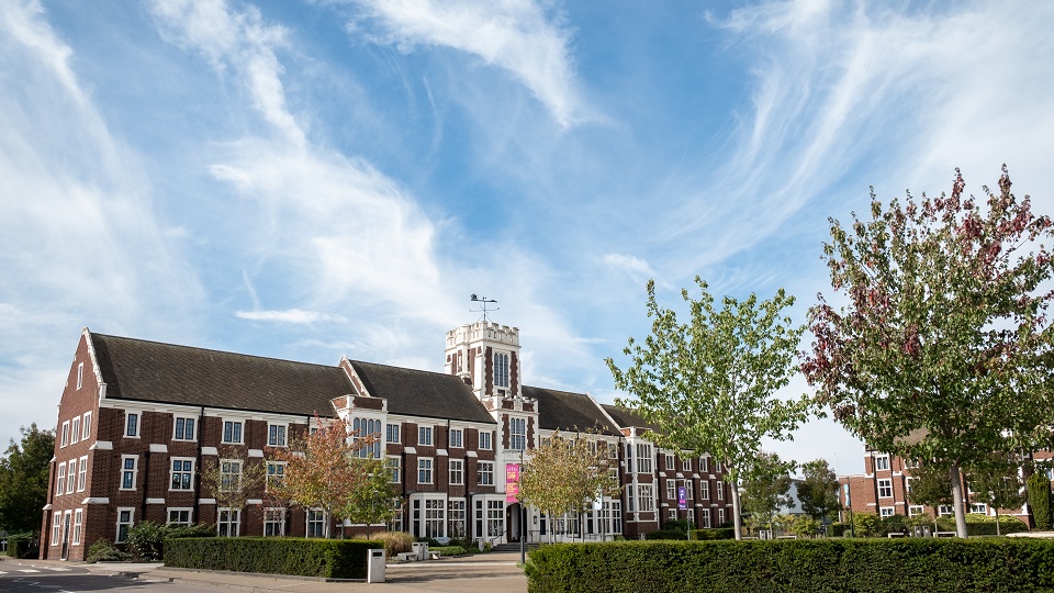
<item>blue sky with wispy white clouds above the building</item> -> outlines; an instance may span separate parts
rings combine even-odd
[[[676,307],[832,289],[828,217],[996,187],[1054,214],[1050,2],[0,2],[0,443],[53,427],[83,327],[527,384]],[[682,303],[683,304],[683,303]],[[803,348],[808,348],[808,338]],[[800,377],[787,396],[808,391]],[[784,458],[863,469],[815,419]]]

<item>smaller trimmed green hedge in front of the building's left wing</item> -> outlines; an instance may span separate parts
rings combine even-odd
[[[368,550],[383,547],[383,541],[362,539],[190,537],[165,542],[165,566],[366,579]]]

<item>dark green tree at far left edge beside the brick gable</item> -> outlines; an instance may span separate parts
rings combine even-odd
[[[55,456],[55,433],[36,423],[19,429],[0,458],[0,528],[7,532],[41,530],[41,508],[47,503],[47,479]]]

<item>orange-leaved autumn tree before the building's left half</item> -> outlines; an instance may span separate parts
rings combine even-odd
[[[335,518],[355,500],[356,490],[369,480],[365,465],[355,462],[355,451],[372,443],[373,437],[351,438],[350,426],[338,419],[315,416],[317,429],[294,440],[289,450],[276,450],[276,459],[285,462],[281,482],[273,485],[277,496],[304,508],[318,508],[325,517],[323,535],[332,537]]]

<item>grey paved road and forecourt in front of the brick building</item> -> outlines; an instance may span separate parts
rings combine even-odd
[[[160,564],[79,564],[0,557],[0,592],[75,593],[149,591],[200,593],[233,591],[526,593],[527,579],[516,566],[518,553],[489,553],[389,566],[384,583],[327,583],[264,574],[197,572]]]

